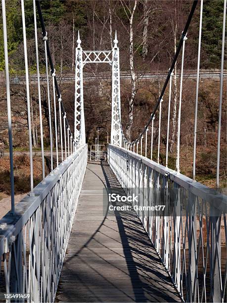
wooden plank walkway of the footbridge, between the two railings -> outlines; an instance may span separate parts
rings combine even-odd
[[[88,163],[56,302],[181,302],[136,213],[103,215],[106,162]]]

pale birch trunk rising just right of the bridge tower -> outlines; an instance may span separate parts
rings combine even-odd
[[[137,1],[135,0],[134,8],[131,12],[130,16],[130,52],[129,52],[129,63],[130,63],[130,72],[132,78],[132,85],[131,85],[131,97],[129,100],[129,114],[128,114],[128,125],[126,126],[126,136],[128,140],[131,140],[131,130],[133,126],[133,106],[134,100],[136,97],[136,73],[134,70],[134,50],[133,50],[133,18],[136,10]]]

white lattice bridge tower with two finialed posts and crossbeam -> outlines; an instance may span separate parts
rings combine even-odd
[[[122,146],[121,100],[120,100],[120,64],[117,33],[112,50],[82,50],[78,33],[75,69],[75,130],[77,141],[85,143],[85,119],[83,98],[83,67],[86,63],[109,63],[112,67],[112,121],[111,144]],[[112,58],[111,58],[112,55]],[[80,138],[81,136],[81,138]]]

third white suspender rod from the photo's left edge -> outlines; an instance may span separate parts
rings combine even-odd
[[[40,112],[40,139],[41,139],[42,169],[43,169],[43,180],[44,180],[44,178],[45,178],[44,136],[43,136],[41,91],[40,91],[40,65],[39,65],[39,49],[38,49],[38,37],[37,37],[36,2],[35,2],[35,0],[33,0],[33,12],[34,12],[35,44],[36,44],[36,66],[37,66],[37,80],[38,80],[38,98],[39,98],[39,112]]]

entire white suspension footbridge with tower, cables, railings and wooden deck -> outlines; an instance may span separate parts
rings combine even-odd
[[[34,188],[26,11],[24,0],[21,0],[31,191],[14,205],[7,27],[5,0],[2,0],[11,211],[0,219],[0,299],[6,302],[226,302],[227,199],[219,190],[210,189],[195,181],[203,1],[200,1],[193,180],[180,172],[180,134],[184,49],[197,1],[192,3],[157,104],[146,126],[133,142],[124,136],[121,124],[117,35],[112,50],[97,51],[83,50],[78,35],[75,56],[75,123],[72,131],[51,59],[45,29],[47,20],[43,18],[40,1],[33,0],[33,5],[43,181]],[[42,33],[37,30],[37,13]],[[217,186],[225,23],[226,0],[220,74]],[[49,111],[51,172],[48,175],[45,174],[40,90],[38,37],[41,34],[45,50]],[[179,56],[182,56],[182,66],[175,171],[168,167],[168,141],[172,75]],[[107,161],[89,163],[83,99],[83,67],[88,63],[109,64],[112,68],[111,143],[107,149]],[[170,87],[169,96],[165,96],[167,86]],[[50,100],[51,87],[53,100]],[[168,127],[164,130],[167,132],[166,166],[159,163],[164,96],[169,101]],[[159,117],[157,162],[152,160],[155,116]],[[148,127],[151,127],[150,154],[147,152]],[[56,161],[53,160],[53,149]],[[115,197],[138,198],[131,202],[123,199],[110,201],[109,196],[113,194]],[[157,209],[159,205],[165,207]]]

